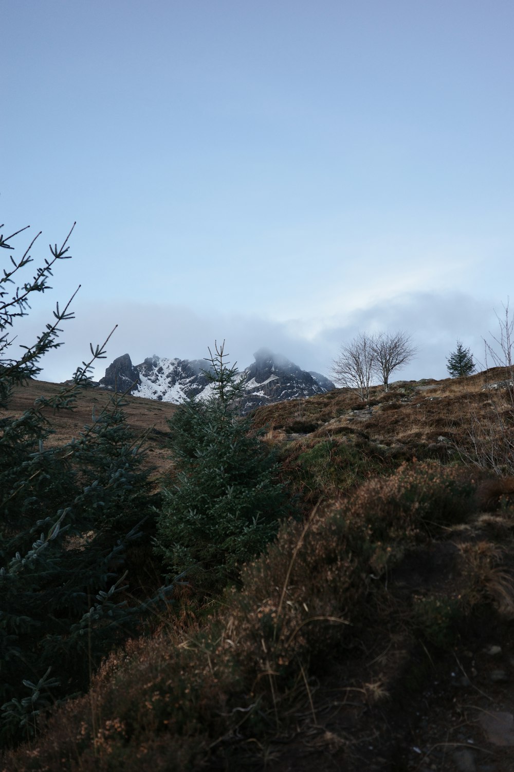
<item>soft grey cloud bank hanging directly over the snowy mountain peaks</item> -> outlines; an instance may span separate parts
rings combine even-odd
[[[145,357],[196,359],[208,355],[214,341],[227,341],[230,361],[246,367],[254,351],[267,347],[284,354],[305,369],[324,366],[315,347],[273,320],[243,314],[202,313],[187,306],[164,303],[108,303],[94,310],[84,303],[75,305],[76,319],[63,325],[60,338],[64,345],[47,354],[39,378],[63,381],[82,360],[90,357],[89,344],[102,344],[109,332],[118,327],[107,344],[107,359],[96,365],[95,378],[101,378],[107,364],[128,353],[134,364]],[[31,344],[48,317],[31,315],[18,324],[18,342]],[[314,364],[311,364],[314,362]]]

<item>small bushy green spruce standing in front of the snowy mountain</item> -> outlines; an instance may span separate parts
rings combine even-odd
[[[205,371],[206,401],[180,405],[170,426],[173,486],[164,490],[156,551],[172,575],[185,572],[197,594],[220,591],[237,579],[244,561],[264,550],[286,511],[274,455],[238,412],[235,365],[223,345]]]

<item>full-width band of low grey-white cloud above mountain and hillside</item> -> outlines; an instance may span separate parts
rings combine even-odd
[[[497,304],[499,305],[499,304]],[[492,303],[465,293],[404,293],[381,300],[349,314],[270,320],[252,314],[207,313],[203,309],[167,303],[129,303],[117,301],[92,307],[84,301],[75,304],[76,319],[66,323],[59,350],[42,361],[40,378],[63,381],[82,360],[90,356],[89,344],[102,344],[117,324],[107,345],[107,357],[96,366],[101,378],[106,365],[128,353],[134,364],[145,357],[202,358],[214,340],[226,340],[230,361],[246,367],[253,354],[264,346],[284,354],[305,370],[328,374],[331,362],[345,341],[358,332],[381,329],[405,330],[412,335],[418,355],[398,371],[398,378],[445,378],[446,357],[459,338],[470,347],[475,358],[483,352],[482,337],[497,327]],[[42,311],[18,325],[18,342],[30,344],[40,333],[48,315]]]

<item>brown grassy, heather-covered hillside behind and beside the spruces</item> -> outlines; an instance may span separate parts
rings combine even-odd
[[[190,587],[0,770],[512,770],[512,387],[496,368],[260,408],[294,516]],[[500,384],[495,388],[491,384]],[[12,410],[51,384],[32,381]],[[52,417],[69,438],[106,398]],[[170,473],[173,406],[128,398]],[[467,766],[466,766],[467,765]]]

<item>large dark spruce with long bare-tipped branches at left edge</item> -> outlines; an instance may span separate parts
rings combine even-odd
[[[1,235],[0,247],[12,252],[15,235]],[[34,734],[49,703],[86,689],[101,659],[158,600],[129,607],[120,597],[124,549],[153,510],[123,400],[113,395],[76,442],[46,444],[53,429],[43,408],[73,408],[105,344],[54,397],[39,398],[21,417],[8,412],[14,388],[39,374],[44,354],[61,345],[59,325],[72,318],[69,304],[58,305],[35,344],[8,357],[9,329],[28,313],[32,293],[49,289],[55,263],[69,257],[67,241],[50,247],[51,259],[14,294],[9,285],[32,262],[35,239],[21,259],[11,254],[0,276],[0,739],[7,744]]]

